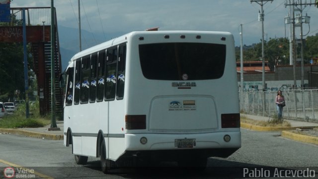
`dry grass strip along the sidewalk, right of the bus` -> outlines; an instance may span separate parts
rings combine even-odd
[[[260,121],[260,120],[254,120],[249,119],[245,117],[240,117],[240,122],[252,124],[255,126],[262,126],[262,127],[291,127],[291,124],[286,120],[279,120],[273,118],[272,120],[268,121]]]

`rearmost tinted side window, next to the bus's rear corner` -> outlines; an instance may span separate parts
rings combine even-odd
[[[126,45],[119,46],[118,66],[117,66],[117,88],[116,99],[124,97],[125,89],[125,67],[126,67]]]

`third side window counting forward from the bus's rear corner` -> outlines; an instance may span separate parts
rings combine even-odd
[[[104,100],[105,90],[105,65],[106,65],[106,50],[98,53],[97,62],[97,99],[96,101]]]

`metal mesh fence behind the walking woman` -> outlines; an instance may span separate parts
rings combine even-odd
[[[282,90],[286,106],[283,118],[318,122],[318,89]],[[277,91],[243,91],[240,93],[240,112],[274,117],[277,115]]]

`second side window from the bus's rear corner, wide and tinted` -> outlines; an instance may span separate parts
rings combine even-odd
[[[106,88],[105,100],[114,100],[116,94],[118,49],[107,49],[106,52]]]

